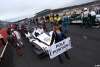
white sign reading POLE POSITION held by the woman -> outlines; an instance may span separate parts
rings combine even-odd
[[[71,39],[70,37],[49,46],[49,56],[50,59],[55,58],[56,56],[64,53],[65,51],[71,48]]]

